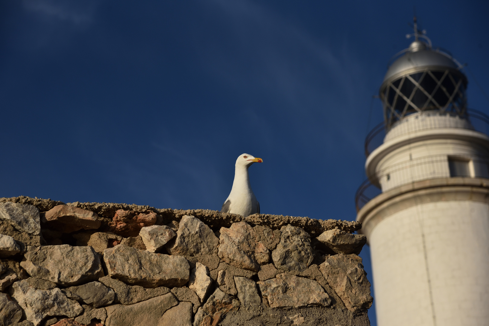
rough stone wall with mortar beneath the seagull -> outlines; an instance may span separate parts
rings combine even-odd
[[[360,227],[0,198],[0,326],[370,325]]]

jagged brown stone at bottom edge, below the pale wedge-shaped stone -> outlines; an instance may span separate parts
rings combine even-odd
[[[219,288],[199,308],[194,318],[194,326],[216,326],[228,312],[237,311],[240,306],[238,300],[233,299]]]

